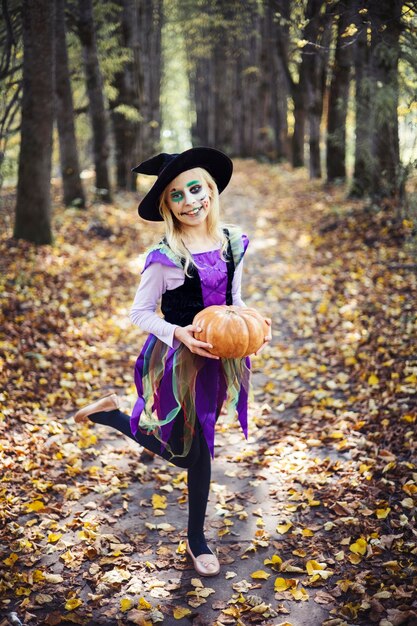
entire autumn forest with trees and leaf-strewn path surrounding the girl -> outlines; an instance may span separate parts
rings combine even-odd
[[[1,11],[0,624],[415,626],[415,3]],[[234,159],[245,301],[274,320],[249,441],[216,434],[210,587],[184,474],[71,417],[136,399],[131,168],[193,145]]]

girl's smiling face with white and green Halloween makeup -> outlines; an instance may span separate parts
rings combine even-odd
[[[196,170],[182,172],[169,184],[168,206],[184,224],[205,220],[210,209],[209,189]]]

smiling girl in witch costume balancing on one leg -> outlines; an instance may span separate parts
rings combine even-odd
[[[236,412],[247,437],[249,359],[219,359],[194,338],[196,313],[212,304],[245,306],[240,297],[248,240],[221,228],[219,193],[233,165],[222,152],[192,148],[159,154],[132,171],[157,175],[139,204],[145,220],[165,222],[164,239],[148,251],[130,312],[150,333],[135,366],[138,399],[131,416],[115,394],[80,409],[147,450],[188,470],[186,549],[202,576],[215,576],[219,561],[206,543],[204,518],[214,456],[214,427],[223,404]],[[161,304],[163,318],[156,312]],[[270,320],[266,320],[270,325]],[[265,344],[270,340],[265,337]],[[264,344],[264,345],[265,345]]]

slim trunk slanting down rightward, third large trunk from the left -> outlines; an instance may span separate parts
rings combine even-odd
[[[93,131],[96,190],[103,202],[111,202],[108,170],[109,144],[104,106],[103,80],[97,54],[92,0],[79,0],[78,32],[83,48],[89,111]]]

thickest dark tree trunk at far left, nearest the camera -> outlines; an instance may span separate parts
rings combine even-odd
[[[54,4],[24,0],[22,13],[23,99],[13,236],[50,244]]]

